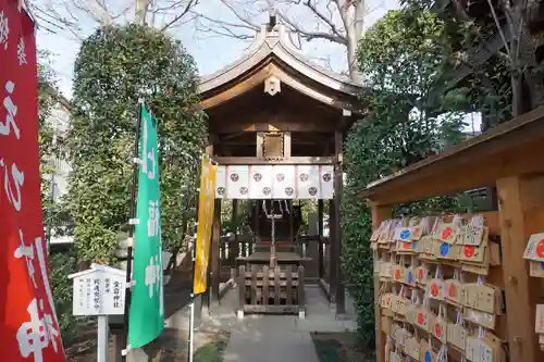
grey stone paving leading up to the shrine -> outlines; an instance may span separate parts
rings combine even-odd
[[[231,290],[198,328],[231,333],[224,362],[319,362],[310,333],[357,328],[350,298],[346,300],[346,315],[337,320],[318,286],[307,287],[305,320],[287,315],[246,315],[238,320],[235,299],[236,294]]]

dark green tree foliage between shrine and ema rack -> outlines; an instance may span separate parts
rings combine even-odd
[[[452,88],[452,54],[444,22],[409,7],[390,11],[359,42],[358,65],[372,90],[362,96],[369,113],[353,126],[344,147],[343,267],[369,342],[374,338],[372,226],[358,192],[462,139],[466,95]],[[417,213],[455,205],[455,199],[441,198],[409,207]]]

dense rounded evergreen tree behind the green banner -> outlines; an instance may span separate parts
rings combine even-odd
[[[207,123],[196,110],[197,72],[180,41],[150,27],[102,27],[75,62],[69,202],[79,257],[111,260],[128,222],[139,98],[158,120],[162,238],[175,248],[195,212]]]

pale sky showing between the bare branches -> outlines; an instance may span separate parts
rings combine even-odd
[[[62,0],[34,0],[33,2],[39,5],[54,4]],[[65,0],[64,0],[65,1]],[[115,0],[118,2],[119,0]],[[319,0],[318,0],[319,1]],[[325,0],[320,0],[321,2]],[[114,3],[115,3],[114,2]],[[388,10],[398,9],[399,4],[396,0],[370,0],[368,1],[368,14],[366,17],[364,27],[372,26],[380,17]],[[62,8],[55,7],[59,12]],[[225,22],[236,22],[234,15],[220,3],[219,0],[203,0],[197,9],[200,13],[209,16],[215,16]],[[292,12],[293,13],[293,12]],[[72,78],[73,65],[77,55],[81,41],[77,40],[69,32],[62,32],[49,24],[49,18],[39,12],[35,13],[38,22],[38,48],[48,50],[51,54],[53,70],[59,78],[59,89],[69,99],[72,95]],[[313,23],[305,21],[309,18],[307,13],[293,13],[293,17],[300,20],[300,24],[307,27],[313,26]],[[121,18],[120,22],[126,20]],[[257,18],[257,23],[265,23],[268,18]],[[88,16],[78,16],[78,25],[82,28],[83,35],[89,35],[96,27],[96,23]],[[48,30],[49,29],[49,30]],[[53,30],[52,34],[50,30]],[[172,35],[182,40],[182,43],[187,51],[194,57],[200,75],[213,73],[225,65],[236,61],[245,48],[249,45],[248,41],[242,41],[234,38],[213,36],[197,32],[193,23],[184,24],[177,27]],[[302,47],[304,53],[318,63],[322,63],[322,58],[329,59],[330,66],[335,71],[344,71],[346,64],[345,50],[338,45],[329,41],[312,41]],[[467,130],[480,128],[480,117],[475,115],[467,117],[470,125]]]

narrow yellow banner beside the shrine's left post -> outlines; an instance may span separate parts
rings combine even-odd
[[[208,287],[208,260],[213,226],[217,171],[218,166],[213,165],[208,157],[203,157],[200,171],[195,276],[193,279],[193,294],[195,296],[205,292]]]

